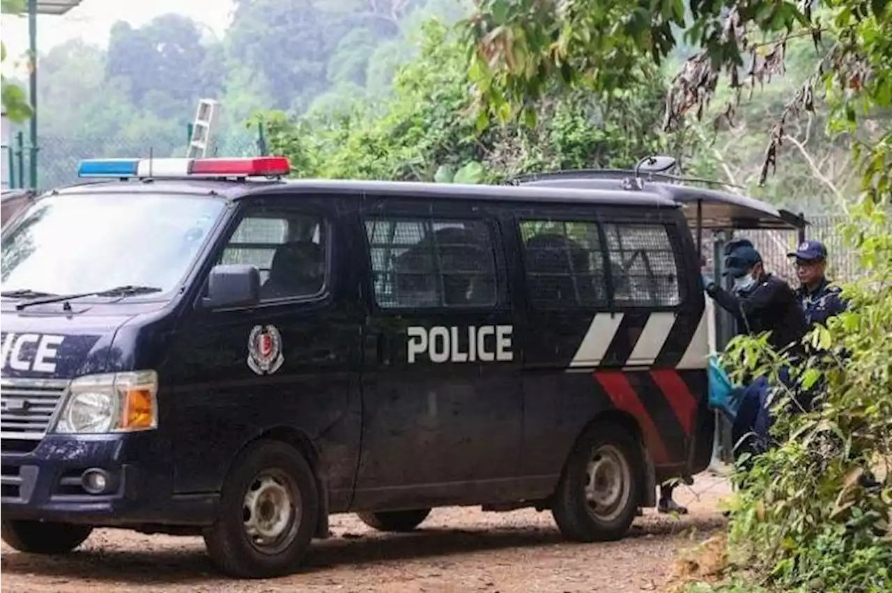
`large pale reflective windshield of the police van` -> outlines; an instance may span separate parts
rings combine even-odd
[[[221,199],[182,194],[38,199],[0,236],[0,291],[66,295],[137,286],[168,292],[183,280],[225,208]]]

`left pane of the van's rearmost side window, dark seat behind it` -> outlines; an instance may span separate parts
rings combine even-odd
[[[598,224],[524,220],[527,295],[544,308],[607,306]]]

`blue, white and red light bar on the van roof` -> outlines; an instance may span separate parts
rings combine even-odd
[[[288,175],[285,157],[253,158],[90,158],[78,177],[275,177]]]

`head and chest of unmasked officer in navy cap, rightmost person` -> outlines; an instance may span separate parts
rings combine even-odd
[[[787,254],[795,258],[799,288],[796,296],[805,313],[809,327],[826,325],[827,320],[846,310],[840,297],[842,289],[830,284],[827,272],[827,248],[821,241],[803,241],[796,251]]]

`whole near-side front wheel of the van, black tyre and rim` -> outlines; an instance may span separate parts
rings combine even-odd
[[[267,579],[295,572],[316,530],[316,476],[300,452],[260,441],[233,463],[204,544],[220,572]]]

